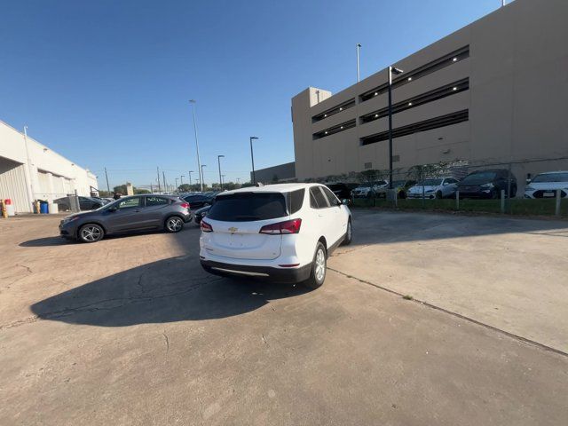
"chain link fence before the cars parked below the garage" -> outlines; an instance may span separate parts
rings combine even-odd
[[[568,217],[568,158],[523,162],[438,162],[342,177],[353,207]]]

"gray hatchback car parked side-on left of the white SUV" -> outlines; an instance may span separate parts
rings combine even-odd
[[[132,195],[65,217],[59,233],[67,239],[95,242],[114,233],[153,229],[177,233],[191,220],[189,203],[175,195]]]

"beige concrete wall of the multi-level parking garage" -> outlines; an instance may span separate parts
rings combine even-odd
[[[469,91],[393,115],[396,129],[469,109],[469,122],[396,138],[393,154],[400,161],[395,167],[456,159],[475,164],[513,162],[519,181],[526,173],[568,169],[564,159],[568,158],[566,22],[568,1],[516,0],[396,62],[398,67],[413,70],[469,45],[469,59],[393,91],[396,103],[469,77]],[[369,146],[359,142],[388,129],[386,118],[359,123],[360,115],[387,105],[386,93],[362,103],[359,95],[386,80],[383,69],[333,96],[309,88],[292,99],[299,180],[364,170],[367,162],[373,169],[388,168],[388,141]],[[320,93],[319,102],[313,100],[315,91]],[[356,106],[312,123],[313,115],[348,99],[356,99]],[[312,140],[313,133],[355,118],[356,128]]]

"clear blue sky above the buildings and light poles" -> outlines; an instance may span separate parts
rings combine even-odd
[[[341,91],[473,20],[501,0],[0,0],[0,120],[110,184],[197,170],[248,180],[294,160],[290,99]],[[185,177],[186,179],[187,177]]]

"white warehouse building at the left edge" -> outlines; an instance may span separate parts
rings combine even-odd
[[[36,200],[67,194],[89,196],[97,177],[20,130],[0,121],[0,199],[11,199],[16,213],[30,213]]]

